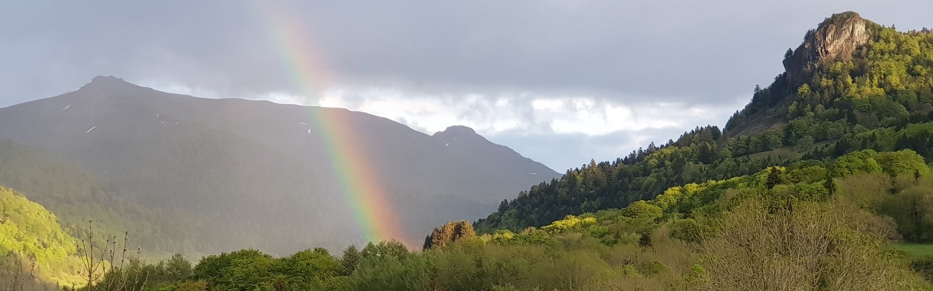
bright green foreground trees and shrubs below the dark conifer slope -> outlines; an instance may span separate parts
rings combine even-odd
[[[926,290],[891,244],[933,238],[927,201],[922,157],[866,150],[672,187],[539,229],[476,235],[453,221],[422,252],[389,241],[339,256],[224,253],[136,290]]]

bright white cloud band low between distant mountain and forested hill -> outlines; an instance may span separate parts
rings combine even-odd
[[[447,126],[474,128],[536,161],[563,170],[597,159],[613,160],[651,141],[676,139],[693,126],[722,125],[744,96],[717,106],[688,102],[625,104],[593,96],[512,92],[438,97],[391,88],[334,88],[321,99],[273,94],[284,103],[369,112],[433,134]]]

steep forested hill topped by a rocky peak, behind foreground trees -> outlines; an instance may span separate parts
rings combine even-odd
[[[676,141],[570,169],[502,203],[477,231],[541,227],[679,185],[773,165],[826,165],[861,150],[909,149],[933,161],[933,31],[898,32],[855,12],[835,14],[787,50],[784,66],[724,129],[697,126]]]

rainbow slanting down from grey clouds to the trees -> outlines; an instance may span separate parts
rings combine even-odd
[[[257,1],[263,22],[269,23],[273,43],[289,71],[291,82],[307,96],[319,96],[329,83],[330,75],[309,42],[310,33],[302,31],[291,10],[271,7],[271,1]],[[327,108],[312,108],[309,126],[317,126],[330,157],[330,168],[341,185],[344,202],[353,213],[361,235],[370,242],[396,239],[407,243],[399,226],[395,207],[383,190],[379,175],[369,165],[367,151],[359,142],[348,114]],[[409,244],[406,244],[409,245]]]

